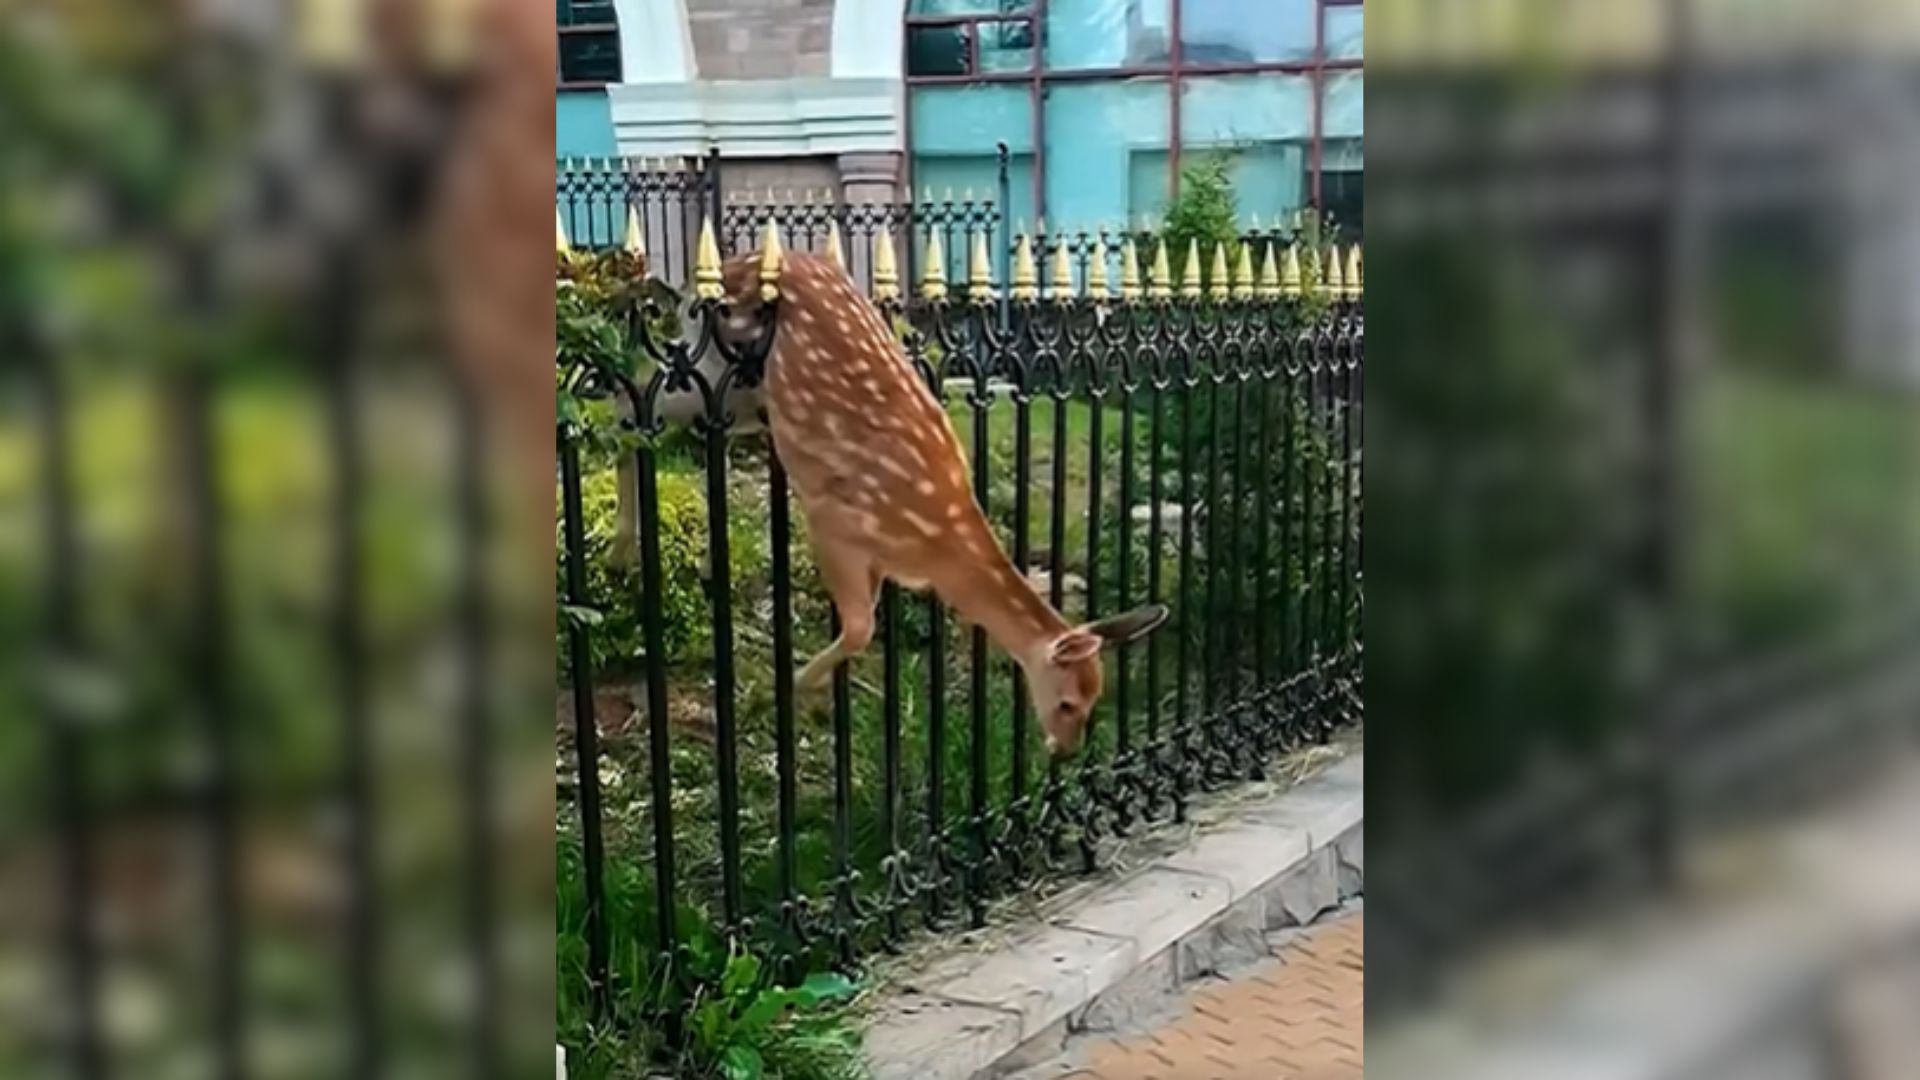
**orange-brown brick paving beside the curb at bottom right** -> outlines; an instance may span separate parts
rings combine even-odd
[[[1187,995],[1146,1034],[1089,1042],[1073,1080],[1359,1080],[1363,915],[1286,938],[1275,959]]]

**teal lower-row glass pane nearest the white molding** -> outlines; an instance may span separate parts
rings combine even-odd
[[[912,90],[914,198],[993,198],[998,186],[996,142],[1006,142],[1014,219],[1033,221],[1033,98],[1014,86],[925,86]]]

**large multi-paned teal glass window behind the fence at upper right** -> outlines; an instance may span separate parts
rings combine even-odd
[[[1225,154],[1244,215],[1357,229],[1363,52],[1361,0],[908,0],[908,171],[989,186],[1004,138],[1012,217],[1091,229]]]

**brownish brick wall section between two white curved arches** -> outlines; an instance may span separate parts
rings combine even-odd
[[[833,0],[687,0],[701,79],[824,77]]]

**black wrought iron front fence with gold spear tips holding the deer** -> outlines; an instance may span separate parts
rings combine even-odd
[[[845,219],[814,211],[776,211],[772,229],[818,227],[845,259]],[[914,288],[891,246],[866,271],[975,498],[1064,613],[1160,601],[1173,619],[1110,659],[1066,765],[1037,753],[1020,671],[985,632],[891,584],[876,655],[803,701],[795,661],[837,623],[749,423],[780,302],[747,346],[722,338],[737,313],[708,288],[626,319],[630,356],[563,348],[578,836],[561,920],[584,940],[563,982],[589,986],[599,1015],[641,982],[672,1015],[668,972],[701,938],[751,940],[793,972],[856,963],[916,922],[977,926],[996,894],[1091,869],[1112,838],[1357,715],[1357,252],[1194,246],[1175,271],[1164,242],[1089,234],[1023,238],[998,273],[991,225],[956,229],[924,238],[935,258]],[[693,267],[708,286],[714,248]],[[563,250],[561,273],[578,286],[624,258]],[[684,425],[674,396],[697,402]]]

